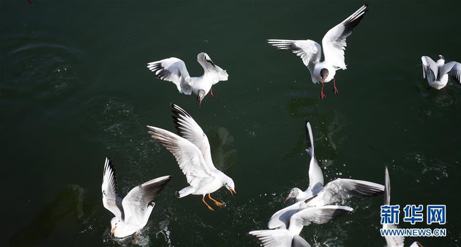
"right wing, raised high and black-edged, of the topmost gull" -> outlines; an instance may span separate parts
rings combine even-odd
[[[346,69],[344,50],[346,50],[346,38],[352,34],[354,28],[368,11],[368,4],[360,7],[342,23],[330,29],[322,39],[325,61],[331,63],[335,69]]]

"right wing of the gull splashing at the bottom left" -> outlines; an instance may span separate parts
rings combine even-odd
[[[149,203],[170,180],[171,175],[162,176],[131,189],[122,201],[125,222],[131,226],[144,227],[150,215],[150,211],[149,215],[146,214]]]

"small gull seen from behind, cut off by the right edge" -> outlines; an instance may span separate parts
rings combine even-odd
[[[442,55],[438,55],[437,62],[428,56],[422,56],[421,60],[423,61],[423,78],[426,78],[433,88],[437,90],[444,88],[448,83],[448,75],[461,84],[459,81],[461,63],[455,61],[445,63],[445,58]]]

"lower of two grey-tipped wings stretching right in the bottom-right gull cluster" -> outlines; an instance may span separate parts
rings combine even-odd
[[[304,226],[309,226],[311,223],[324,224],[352,211],[354,209],[337,205],[306,208],[291,216],[288,230],[298,235]]]

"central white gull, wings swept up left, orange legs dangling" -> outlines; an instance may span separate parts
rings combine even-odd
[[[225,186],[234,195],[235,184],[232,178],[214,167],[211,160],[210,143],[207,135],[195,120],[181,107],[170,104],[173,107],[173,122],[176,125],[177,134],[168,130],[147,126],[152,138],[166,147],[176,158],[179,168],[186,175],[187,183],[190,185],[175,194],[178,198],[186,195],[202,195],[203,203],[209,210],[214,211],[205,201],[205,195],[214,201],[218,207],[224,206],[213,199],[210,193]]]

